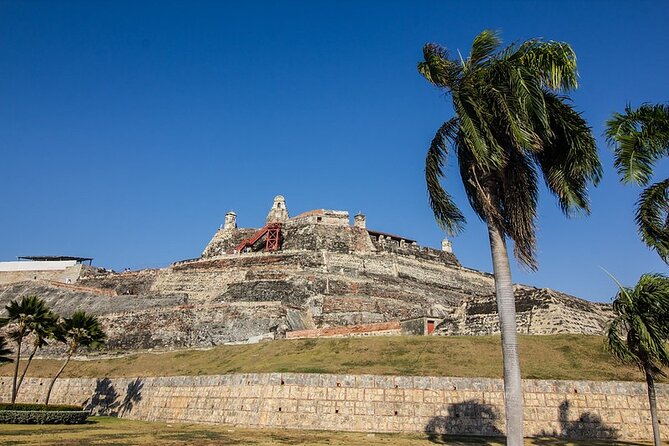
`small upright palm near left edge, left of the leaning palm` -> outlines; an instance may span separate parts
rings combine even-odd
[[[46,306],[46,302],[37,296],[24,297],[20,302],[13,300],[5,307],[5,311],[7,317],[3,321],[5,324],[9,324],[7,335],[16,344],[14,377],[12,379],[12,404],[14,404],[18,392],[17,377],[21,359],[21,344],[36,326],[47,324],[53,313]]]

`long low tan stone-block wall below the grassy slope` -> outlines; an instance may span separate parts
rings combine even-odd
[[[0,377],[0,400],[10,398]],[[41,401],[47,379],[19,394]],[[528,436],[651,439],[645,385],[632,382],[525,380]],[[669,436],[669,385],[657,385],[660,430]],[[62,379],[53,403],[94,413],[244,427],[437,432],[498,436],[504,431],[502,381],[373,375],[237,374],[158,378]]]

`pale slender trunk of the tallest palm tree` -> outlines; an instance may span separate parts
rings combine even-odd
[[[516,299],[513,295],[509,255],[502,232],[492,223],[488,223],[488,236],[490,238],[492,265],[495,274],[497,313],[499,314],[499,326],[502,333],[506,444],[509,446],[522,446],[523,388],[520,379],[520,360],[518,357]]]

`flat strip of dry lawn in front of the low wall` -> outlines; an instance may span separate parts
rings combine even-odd
[[[207,424],[165,424],[91,417],[85,425],[2,425],[3,445],[499,445],[503,439],[441,437],[427,434],[364,434],[349,432],[242,429]],[[527,439],[526,445],[603,446],[650,443]]]

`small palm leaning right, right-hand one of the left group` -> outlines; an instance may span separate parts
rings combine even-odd
[[[63,373],[65,367],[70,362],[72,355],[80,348],[98,348],[104,344],[107,335],[102,330],[102,326],[98,318],[85,311],[76,311],[72,317],[64,318],[56,329],[55,336],[58,340],[67,346],[67,358],[65,363],[58,370],[58,373],[53,377],[49,384],[49,389],[46,393],[45,404],[49,404],[51,398],[51,390],[56,380]]]

